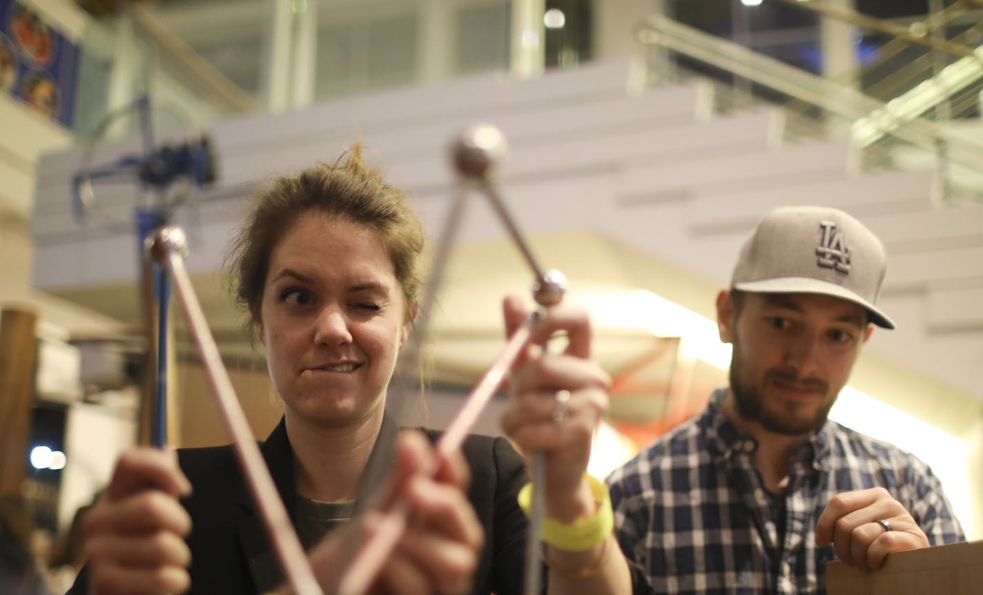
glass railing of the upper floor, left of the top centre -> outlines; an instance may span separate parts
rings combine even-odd
[[[188,129],[357,93],[484,73],[532,76],[593,58],[591,0],[169,0],[132,6],[82,44],[86,139]],[[560,10],[561,7],[562,10]],[[99,91],[99,89],[108,89]],[[91,91],[91,92],[88,92]]]

